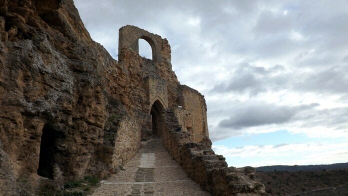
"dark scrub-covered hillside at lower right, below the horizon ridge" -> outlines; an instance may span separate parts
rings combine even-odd
[[[266,191],[277,196],[348,195],[348,169],[318,171],[258,171]]]

